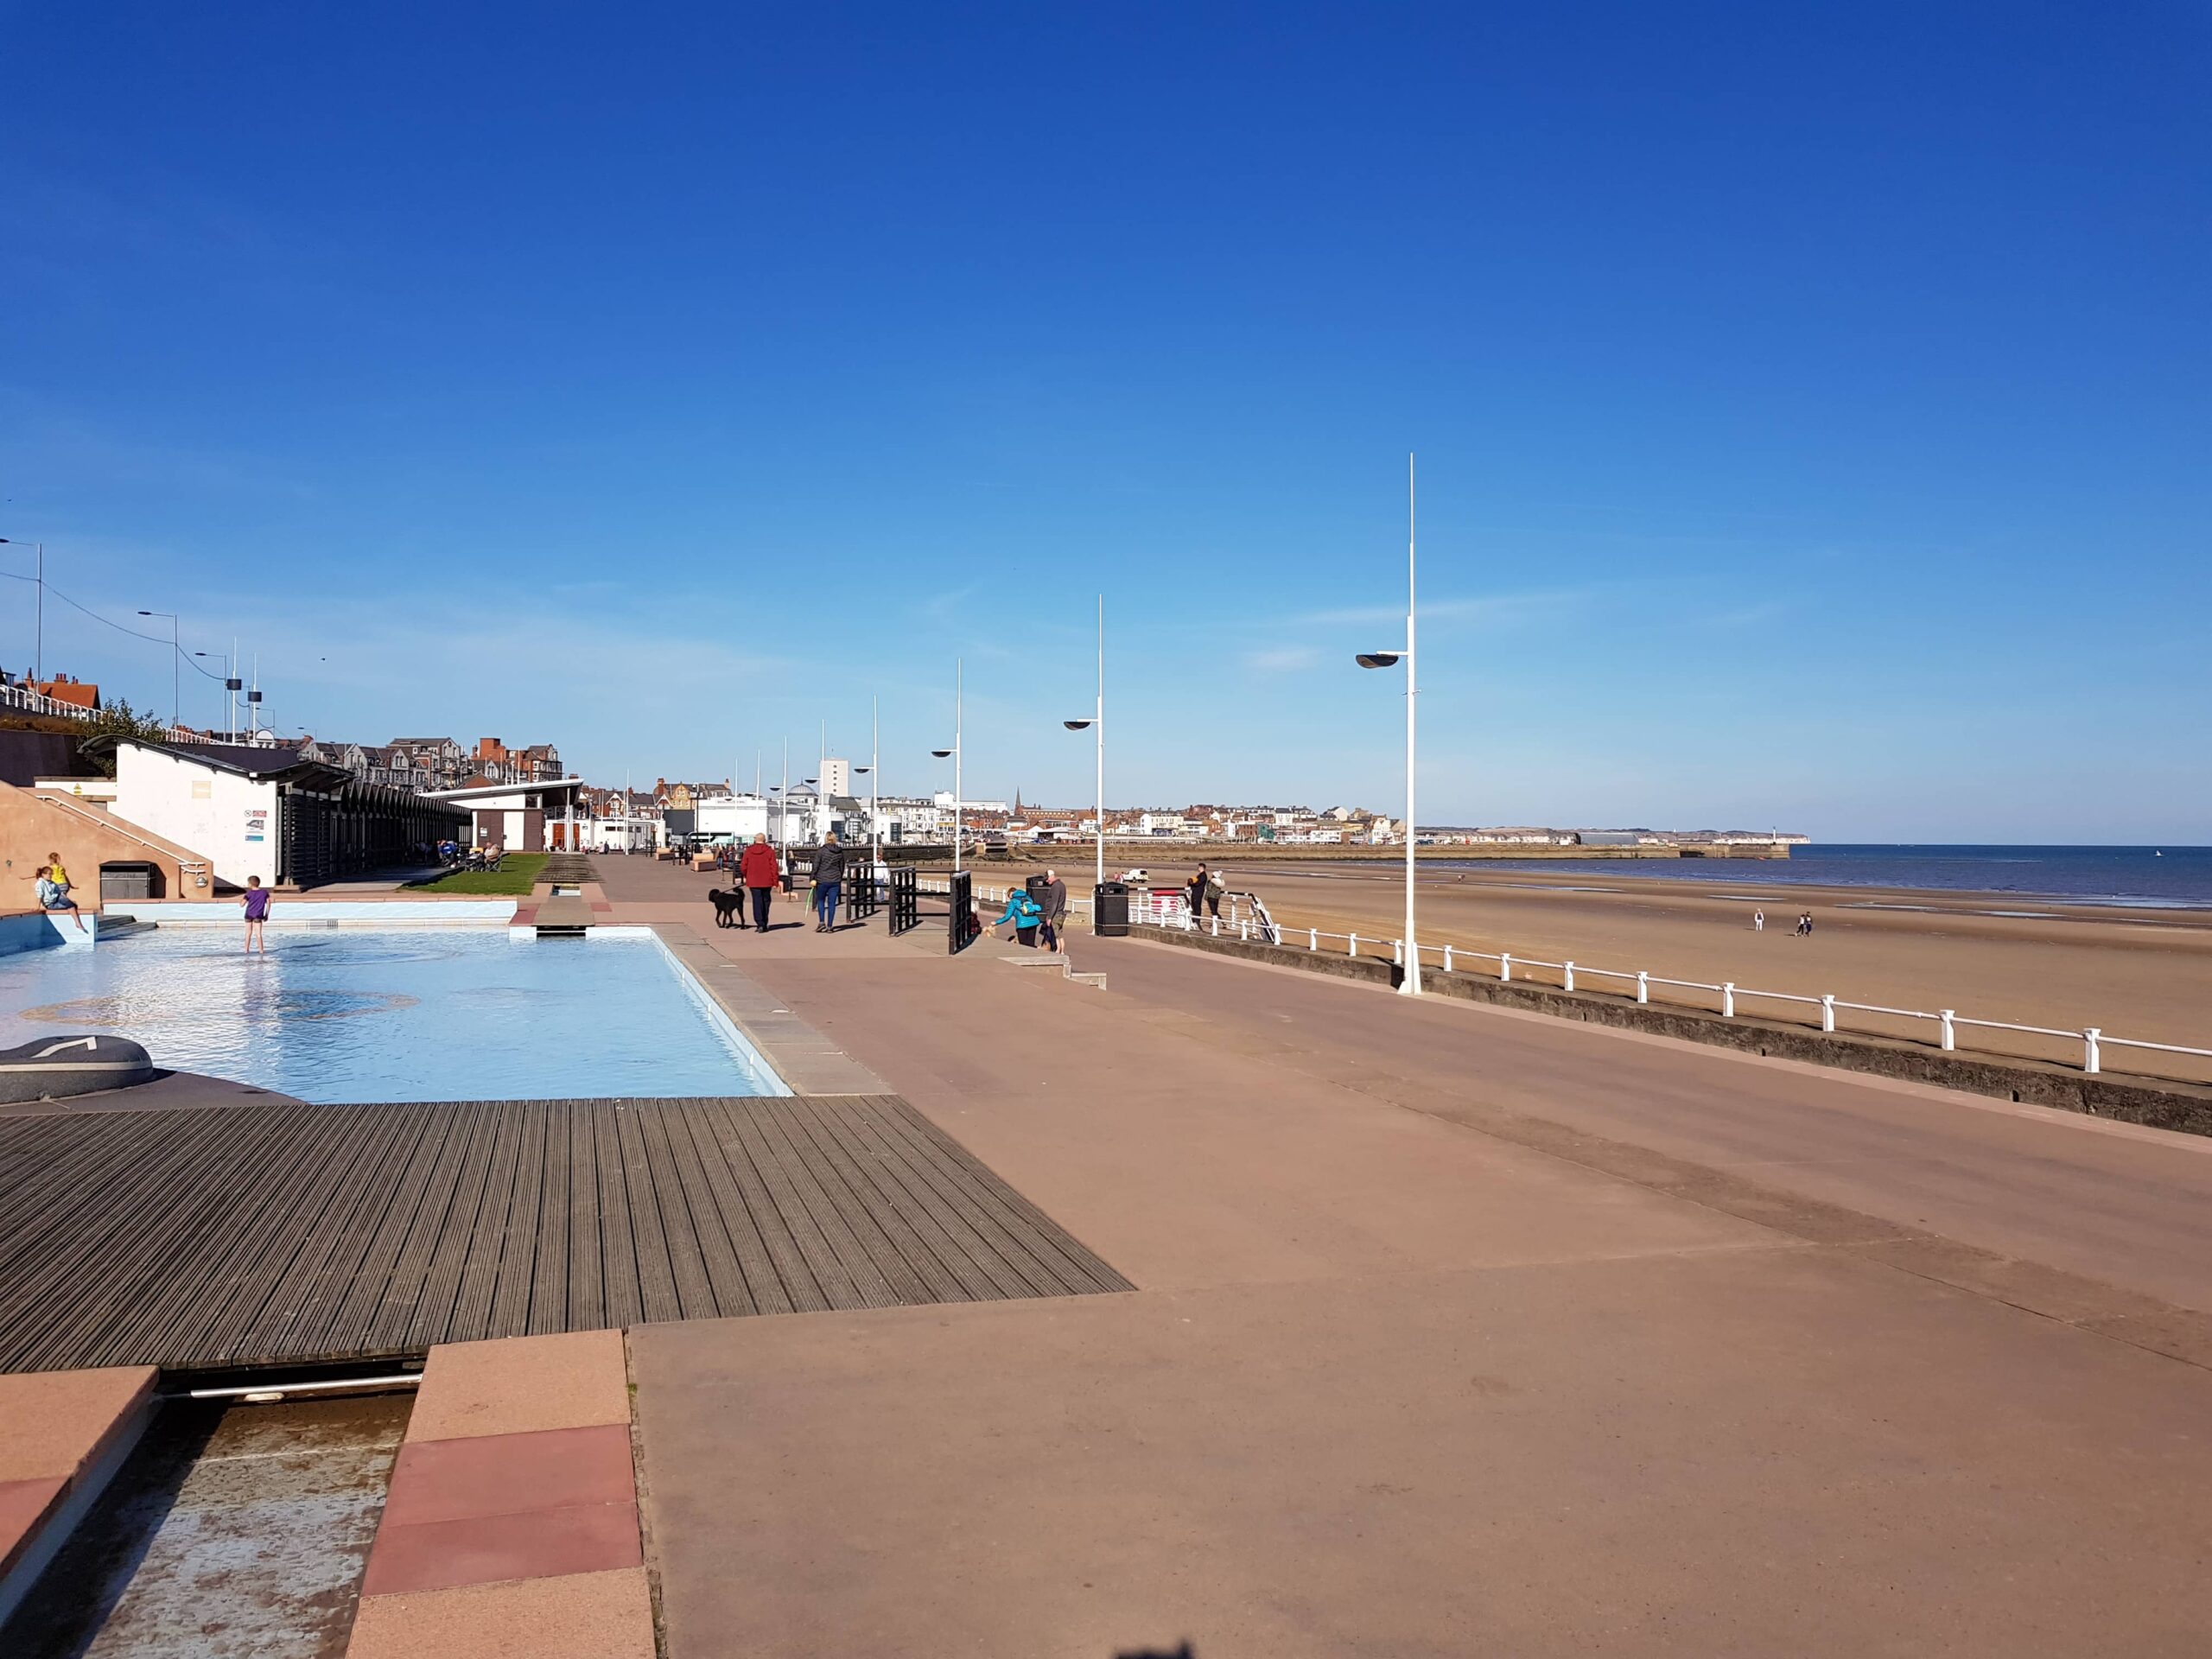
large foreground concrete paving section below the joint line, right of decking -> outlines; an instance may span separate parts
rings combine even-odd
[[[2179,1657],[2212,1628],[2212,1378],[1820,1248],[633,1352],[670,1659]]]

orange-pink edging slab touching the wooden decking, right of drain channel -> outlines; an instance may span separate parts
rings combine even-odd
[[[447,1343],[429,1352],[407,1440],[628,1425],[622,1332]]]

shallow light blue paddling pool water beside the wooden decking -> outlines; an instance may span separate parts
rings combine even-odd
[[[168,927],[0,956],[0,1046],[100,1031],[312,1102],[787,1095],[655,940]]]

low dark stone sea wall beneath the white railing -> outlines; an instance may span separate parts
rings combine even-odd
[[[1210,956],[1274,962],[1276,967],[1325,973],[1338,980],[1360,980],[1365,984],[1398,984],[1400,975],[1400,969],[1380,956],[1354,958],[1329,951],[1298,951],[1287,945],[1248,945],[1232,938],[1212,938],[1210,933],[1183,933],[1172,927],[1144,927],[1133,938],[1206,951]],[[1699,1009],[1655,1006],[1606,991],[1502,984],[1493,978],[1444,973],[1431,967],[1420,971],[1420,987],[1429,995],[1447,995],[1462,1002],[1489,1002],[1500,1009],[1548,1013],[1559,1020],[1584,1020],[1621,1031],[1648,1031],[1659,1037],[1710,1042],[1719,1048],[1736,1048],[1774,1060],[1805,1060],[1816,1066],[1840,1066],[1876,1077],[1960,1088],[1969,1095],[2015,1099],[2026,1106],[2051,1106],[2062,1113],[2086,1113],[2088,1117],[2170,1128],[2183,1135],[2212,1135],[2212,1088],[2201,1084],[2115,1077],[2112,1073],[2090,1075],[2068,1066],[2044,1066],[2033,1060],[1944,1053],[1920,1042],[1807,1031],[1750,1015],[1730,1020]]]

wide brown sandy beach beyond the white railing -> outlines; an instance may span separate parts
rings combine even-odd
[[[1088,858],[1066,860],[1075,883]],[[1152,885],[1186,878],[1194,860],[1148,865]],[[1256,891],[1285,927],[1396,938],[1405,920],[1405,869],[1334,863],[1219,860],[1230,887]],[[1068,872],[1064,872],[1068,874]],[[1115,872],[1119,874],[1119,872]],[[1763,909],[1765,931],[1752,929]],[[1794,938],[1798,911],[1812,938]],[[1734,982],[1794,995],[1836,995],[1891,1009],[1953,1009],[1962,1018],[2212,1048],[2212,914],[2115,909],[1891,887],[1781,887],[1650,876],[1548,874],[1542,869],[1420,872],[1427,945],[1511,951],[1588,969]],[[1336,942],[1334,949],[1345,949]],[[1493,971],[1484,964],[1478,971]],[[1557,973],[1515,967],[1515,978]],[[1621,989],[1586,978],[1586,989]],[[1670,991],[1717,1006],[1717,998]],[[1741,1013],[1809,1020],[1814,1011],[1741,995]],[[1933,1040],[1924,1020],[1858,1015],[1851,1029]],[[1960,1048],[2064,1060],[2079,1042],[1962,1031]],[[2188,1055],[2106,1051],[2106,1071],[2212,1079],[2212,1062]]]

